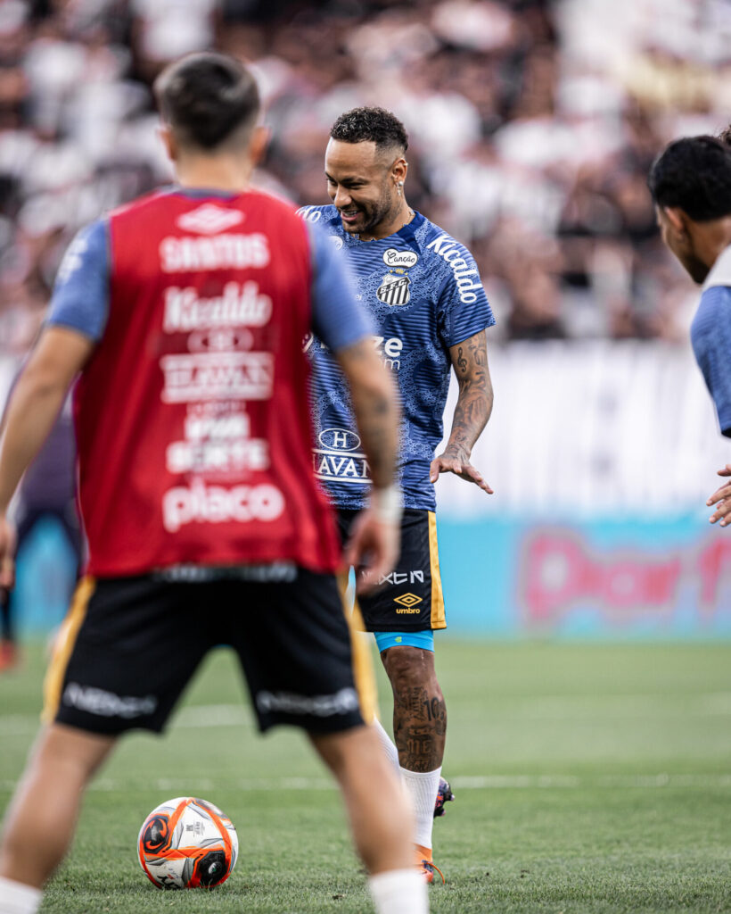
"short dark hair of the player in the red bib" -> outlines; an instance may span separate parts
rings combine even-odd
[[[183,143],[205,150],[240,127],[253,126],[259,90],[245,66],[225,54],[190,54],[162,70],[154,84],[162,120]]]

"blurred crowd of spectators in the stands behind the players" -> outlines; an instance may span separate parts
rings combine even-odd
[[[261,186],[328,202],[340,112],[392,109],[408,198],[475,253],[498,339],[684,339],[692,286],[645,178],[731,117],[726,0],[3,0],[0,354],[37,332],[61,253],[170,179],[151,80],[221,48],[253,62]]]

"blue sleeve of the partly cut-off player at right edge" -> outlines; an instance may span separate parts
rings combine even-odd
[[[691,339],[718,424],[731,438],[731,288],[715,286],[703,293]]]

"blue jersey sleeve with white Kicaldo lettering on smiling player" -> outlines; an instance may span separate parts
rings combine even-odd
[[[449,253],[449,265],[439,296],[439,328],[447,346],[462,343],[495,324],[480,272],[472,254],[462,245]],[[456,255],[456,256],[454,256]]]

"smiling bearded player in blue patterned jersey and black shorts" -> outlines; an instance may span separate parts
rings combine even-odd
[[[470,452],[493,404],[486,328],[495,319],[469,251],[409,207],[407,148],[403,124],[391,112],[356,108],[342,114],[325,156],[332,206],[300,212],[322,226],[350,261],[358,298],[378,327],[373,345],[401,391],[401,557],[379,581],[381,589],[359,602],[391,681],[395,746],[377,727],[412,796],[416,863],[431,882],[433,817],[452,798],[441,779],[446,707],[433,660],[433,632],[446,627],[434,483],[440,473],[455,473],[492,493]],[[369,468],[335,360],[318,339],[307,346],[315,367],[315,472],[339,509],[347,539],[366,505]],[[459,398],[444,452],[434,456],[453,368]]]

